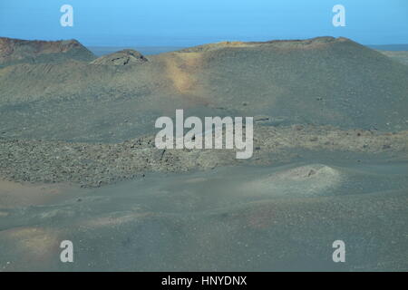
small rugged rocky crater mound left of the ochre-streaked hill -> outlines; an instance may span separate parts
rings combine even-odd
[[[131,65],[146,63],[148,59],[141,53],[132,49],[125,49],[117,53],[111,53],[104,55],[94,61],[92,64],[104,64],[104,65]]]

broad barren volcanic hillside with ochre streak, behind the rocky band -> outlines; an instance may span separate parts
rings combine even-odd
[[[0,70],[4,137],[127,140],[179,108],[276,125],[408,128],[408,66],[346,38],[212,43],[149,57],[125,50],[98,59],[75,41],[3,39],[1,47],[3,63],[15,62]]]

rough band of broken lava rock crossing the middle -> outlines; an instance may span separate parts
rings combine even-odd
[[[268,165],[296,157],[295,150],[390,152],[407,157],[408,132],[344,131],[293,125],[254,129],[254,156],[237,160],[235,150],[158,150],[154,136],[121,143],[0,140],[0,176],[31,182],[71,182],[99,187],[150,172],[184,172],[225,165]]]

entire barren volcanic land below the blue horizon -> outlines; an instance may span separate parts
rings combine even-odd
[[[402,59],[333,37],[99,58],[0,40],[0,271],[408,269]],[[156,149],[181,108],[254,116],[253,157]]]

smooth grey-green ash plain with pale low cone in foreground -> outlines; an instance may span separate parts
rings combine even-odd
[[[1,208],[0,268],[405,271],[407,163],[346,157],[151,174]],[[58,260],[64,239],[73,241],[73,264]],[[345,264],[331,260],[337,239]]]

